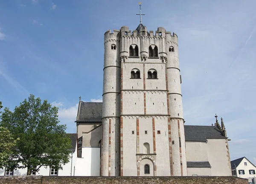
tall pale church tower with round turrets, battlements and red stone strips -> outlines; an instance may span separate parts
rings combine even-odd
[[[140,19],[104,48],[101,176],[187,176],[177,35]]]

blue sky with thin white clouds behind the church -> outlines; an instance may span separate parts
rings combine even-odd
[[[142,0],[148,31],[179,39],[186,125],[223,117],[230,157],[256,164],[255,0]],[[60,108],[75,133],[79,96],[102,99],[104,33],[139,22],[137,0],[0,0],[0,101],[13,109],[30,93]]]

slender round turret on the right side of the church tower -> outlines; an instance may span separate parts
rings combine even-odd
[[[171,32],[166,32],[166,70],[172,133],[172,166],[174,176],[187,176],[183,105],[180,85],[181,76],[177,41],[177,35],[175,33],[171,35]]]

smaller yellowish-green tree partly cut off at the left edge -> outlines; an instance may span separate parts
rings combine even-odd
[[[18,139],[17,139],[18,140]],[[8,165],[9,156],[13,153],[16,141],[7,128],[0,127],[0,168]]]

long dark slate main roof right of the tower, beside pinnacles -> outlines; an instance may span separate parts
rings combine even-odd
[[[215,126],[184,125],[186,141],[207,141],[207,138],[226,138]]]

